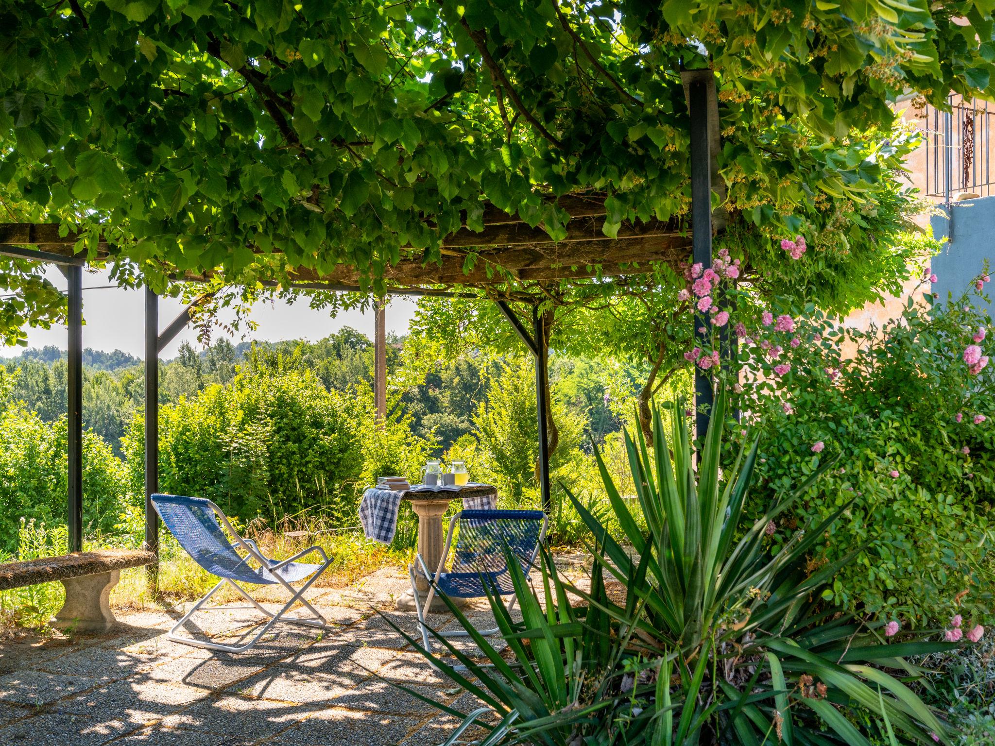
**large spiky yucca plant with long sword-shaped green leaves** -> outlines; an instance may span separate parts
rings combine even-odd
[[[443,638],[473,675],[434,661],[497,713],[499,724],[489,726],[485,743],[948,743],[947,727],[906,685],[921,671],[904,656],[957,646],[888,644],[878,634],[880,623],[826,607],[821,599],[823,587],[848,560],[812,568],[808,551],[848,503],[799,531],[776,554],[766,548],[770,521],[830,465],[743,529],[757,443],[722,473],[725,397],[719,395],[697,454],[696,477],[683,409],[678,402],[672,418],[673,457],[659,411],[653,416],[652,454],[641,434],[633,441],[626,433],[646,533],[598,458],[631,550],[570,495],[593,535],[589,590],[564,582],[543,553],[543,609],[508,557],[522,621],[515,624],[497,598],[491,606],[512,660],[474,635],[450,606],[490,662],[471,659]],[[624,605],[606,593],[606,572],[624,587]],[[571,593],[586,605],[572,608]]]

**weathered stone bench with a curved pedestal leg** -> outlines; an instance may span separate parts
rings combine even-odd
[[[110,589],[117,585],[120,571],[157,561],[153,552],[141,549],[101,549],[7,562],[0,564],[0,591],[61,581],[66,588],[66,603],[56,614],[53,627],[106,632],[116,622],[107,600]]]

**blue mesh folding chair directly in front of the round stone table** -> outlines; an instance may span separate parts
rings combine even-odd
[[[415,609],[422,630],[425,650],[431,653],[432,643],[428,627],[425,625],[425,610],[432,606],[436,591],[451,598],[475,599],[487,596],[487,591],[500,596],[510,596],[508,612],[514,608],[514,587],[507,571],[504,547],[511,550],[521,563],[521,569],[528,576],[539,554],[539,546],[546,537],[549,518],[541,510],[461,510],[449,522],[446,547],[443,549],[439,567],[435,573],[429,572],[421,554],[415,555],[418,565],[408,566],[411,576],[411,589],[415,596]],[[453,535],[456,528],[456,546]],[[446,559],[453,551],[453,565],[447,571]],[[422,603],[418,595],[416,580],[418,574],[429,583],[429,592]],[[485,583],[487,591],[485,591]],[[477,630],[481,635],[497,635],[500,630]],[[467,637],[466,630],[438,633],[444,638]]]

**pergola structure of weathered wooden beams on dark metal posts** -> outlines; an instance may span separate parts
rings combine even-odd
[[[541,228],[532,228],[519,217],[509,215],[494,205],[484,209],[484,230],[462,228],[442,242],[439,262],[426,263],[411,256],[385,268],[383,278],[387,293],[416,295],[466,295],[460,288],[477,289],[497,303],[503,316],[535,358],[536,399],[538,404],[539,486],[543,507],[550,506],[549,454],[547,435],[548,399],[546,352],[539,340],[545,338],[538,305],[532,306],[532,318],[522,319],[508,300],[520,300],[498,288],[509,281],[584,280],[601,277],[639,275],[651,271],[657,263],[678,270],[690,257],[703,267],[711,266],[711,239],[715,223],[711,209],[711,184],[717,177],[715,154],[718,148],[718,114],[714,75],[711,71],[684,73],[691,113],[691,181],[692,211],[690,227],[679,220],[627,223],[615,238],[602,230],[606,209],[605,195],[571,194],[548,199],[570,216],[566,237],[558,242]],[[713,220],[718,218],[718,221]],[[690,234],[689,235],[689,228]],[[69,549],[83,547],[83,268],[86,261],[77,257],[74,246],[79,237],[60,236],[58,224],[0,224],[0,256],[17,257],[57,265],[69,280],[68,289],[68,425],[69,425]],[[472,269],[467,259],[473,254]],[[112,261],[115,249],[101,239],[97,247],[100,262]],[[185,274],[182,281],[209,280],[204,274]],[[331,272],[318,274],[307,268],[288,273],[289,287],[360,291],[361,274],[356,268],[339,265]],[[285,286],[286,285],[285,283]],[[455,289],[455,291],[454,291]],[[158,358],[162,349],[191,318],[194,300],[164,329],[159,329],[158,296],[145,290],[145,548],[158,551],[158,516],[150,495],[158,491]],[[382,306],[378,308],[377,336],[382,335]],[[698,314],[697,331],[704,324]],[[377,356],[378,366],[384,365]],[[380,380],[382,369],[375,379]],[[381,384],[382,385],[382,384]],[[710,378],[696,373],[697,433],[708,426],[712,399]]]

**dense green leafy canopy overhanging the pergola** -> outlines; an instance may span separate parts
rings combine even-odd
[[[81,251],[102,230],[158,289],[220,270],[251,292],[336,263],[377,279],[481,230],[485,200],[553,239],[567,216],[543,195],[607,194],[608,236],[686,216],[679,71],[707,67],[731,224],[819,236],[823,277],[860,279],[877,211],[902,201],[888,101],[989,93],[990,16],[925,0],[15,0],[0,191],[17,219],[78,225]],[[8,340],[62,313],[30,263],[4,260],[0,284],[18,290],[0,304]]]

